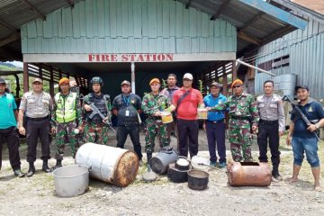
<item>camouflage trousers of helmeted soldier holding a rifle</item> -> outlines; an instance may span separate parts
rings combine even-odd
[[[107,145],[108,127],[104,123],[85,123],[85,142]]]

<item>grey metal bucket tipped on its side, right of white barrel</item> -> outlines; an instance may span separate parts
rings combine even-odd
[[[153,172],[156,174],[165,174],[169,164],[175,163],[178,153],[173,148],[161,148],[156,156],[149,161]]]

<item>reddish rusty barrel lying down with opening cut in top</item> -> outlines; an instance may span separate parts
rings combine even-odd
[[[267,163],[231,162],[227,167],[232,186],[269,186],[271,170]]]

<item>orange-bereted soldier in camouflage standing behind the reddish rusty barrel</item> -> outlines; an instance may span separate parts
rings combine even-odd
[[[243,82],[240,79],[236,79],[231,88],[234,94],[229,96],[227,102],[209,109],[220,111],[229,108],[229,142],[233,160],[252,161],[250,129],[252,123],[252,130],[254,132],[257,130],[259,121],[257,105],[251,94],[243,93]]]

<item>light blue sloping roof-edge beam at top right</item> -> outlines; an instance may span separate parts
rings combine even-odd
[[[238,0],[239,2],[243,4],[247,4],[250,7],[257,8],[257,10],[264,12],[265,14],[269,14],[275,19],[278,19],[284,23],[288,23],[293,25],[295,28],[305,30],[307,22],[302,20],[301,18],[290,14],[288,12],[285,12],[284,10],[275,7],[272,4],[268,4],[264,1],[260,0]]]

